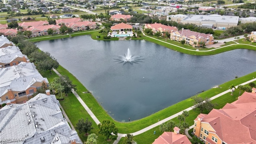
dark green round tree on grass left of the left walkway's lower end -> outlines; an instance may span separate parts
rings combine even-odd
[[[78,120],[78,123],[76,124],[76,129],[79,131],[79,133],[87,134],[87,132],[90,132],[92,130],[92,122],[86,118],[84,121],[84,118]]]

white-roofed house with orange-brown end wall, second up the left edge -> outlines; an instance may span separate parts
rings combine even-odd
[[[17,46],[0,48],[0,68],[15,66],[20,62],[30,62]]]

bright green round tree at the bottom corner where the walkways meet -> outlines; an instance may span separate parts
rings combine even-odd
[[[102,124],[98,124],[99,133],[105,136],[105,140],[116,140],[118,129],[116,128],[114,122],[110,120],[103,120]]]

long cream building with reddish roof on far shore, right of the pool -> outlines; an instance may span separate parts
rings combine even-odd
[[[184,29],[172,32],[170,34],[170,39],[176,40],[178,42],[180,42],[181,40],[185,40],[185,44],[190,44],[194,47],[214,44],[214,37],[212,36],[212,34],[204,34]]]

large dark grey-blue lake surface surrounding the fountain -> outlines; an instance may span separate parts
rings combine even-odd
[[[118,121],[137,120],[215,85],[256,71],[256,51],[192,56],[144,40],[97,41],[78,36],[37,42]],[[144,60],[118,63],[131,54]]]

